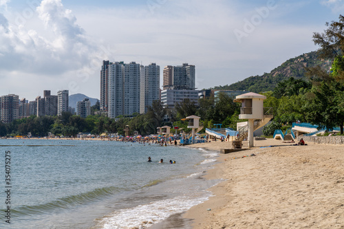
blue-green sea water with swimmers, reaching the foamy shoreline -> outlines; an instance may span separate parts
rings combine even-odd
[[[206,201],[206,189],[219,182],[202,178],[217,157],[202,149],[92,140],[0,140],[0,146],[0,228],[147,228]]]

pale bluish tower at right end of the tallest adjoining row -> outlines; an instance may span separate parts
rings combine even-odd
[[[151,63],[140,67],[140,113],[147,113],[147,106],[160,100],[160,66]]]

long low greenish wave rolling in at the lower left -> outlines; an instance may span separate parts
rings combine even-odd
[[[107,195],[113,195],[119,193],[122,189],[116,187],[96,188],[95,190],[87,193],[81,193],[78,195],[70,195],[67,197],[59,198],[49,203],[39,204],[34,206],[20,206],[12,210],[14,215],[36,215],[44,214],[56,209],[68,209],[73,206],[86,204],[91,201],[95,201],[105,197]]]

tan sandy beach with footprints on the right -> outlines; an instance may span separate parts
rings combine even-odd
[[[261,140],[220,155],[204,178],[225,180],[183,215],[184,228],[344,228],[344,146],[306,143]],[[193,147],[219,151],[230,142]]]

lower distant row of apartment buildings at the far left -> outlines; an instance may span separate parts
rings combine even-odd
[[[43,91],[43,97],[37,96],[35,100],[28,102],[25,98],[19,100],[19,96],[9,94],[0,97],[0,120],[10,123],[18,118],[29,116],[61,116],[62,112],[70,111],[68,102],[68,90],[57,92],[53,96],[50,91]]]

